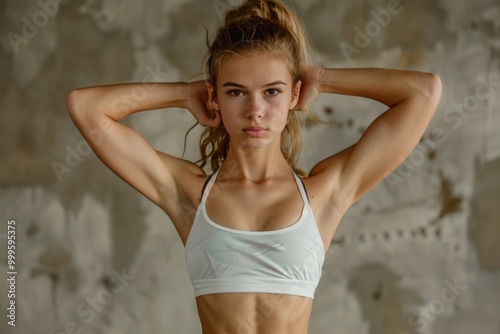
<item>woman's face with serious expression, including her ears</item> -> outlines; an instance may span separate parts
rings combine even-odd
[[[225,60],[212,100],[220,110],[231,144],[242,148],[280,147],[288,112],[298,102],[300,81],[282,59],[264,53]]]

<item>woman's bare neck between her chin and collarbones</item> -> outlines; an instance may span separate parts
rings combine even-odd
[[[230,178],[254,183],[263,182],[270,177],[289,175],[290,169],[281,154],[281,148],[276,145],[248,149],[229,145],[226,160],[221,166],[221,171],[227,172]]]

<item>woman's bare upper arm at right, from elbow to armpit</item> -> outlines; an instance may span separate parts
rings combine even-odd
[[[321,175],[334,196],[355,202],[408,157],[436,105],[414,99],[388,109],[370,124],[356,144],[325,159],[311,174]]]

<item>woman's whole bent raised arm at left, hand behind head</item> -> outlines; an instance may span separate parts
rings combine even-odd
[[[215,126],[219,117],[209,118],[204,102],[207,96],[204,82],[131,83],[73,90],[67,106],[99,159],[167,213],[173,213],[182,193],[189,191],[188,181],[204,172],[195,164],[154,150],[138,132],[119,121],[139,111],[183,107],[203,125]]]

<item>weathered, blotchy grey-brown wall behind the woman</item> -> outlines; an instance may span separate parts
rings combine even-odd
[[[204,26],[241,0],[59,2],[0,0],[0,331],[199,332],[175,230],[89,151],[65,96],[81,86],[195,78]],[[310,332],[500,333],[500,1],[292,4],[317,63],[432,71],[444,84],[415,151],[343,219]],[[304,129],[303,167],[352,144],[382,110],[321,96],[315,113],[337,125]],[[160,110],[126,122],[180,155],[194,119]],[[16,327],[5,316],[9,219]]]

